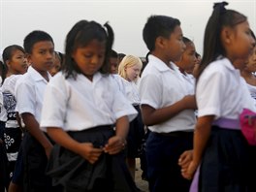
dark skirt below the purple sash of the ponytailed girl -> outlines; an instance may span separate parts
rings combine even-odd
[[[248,154],[240,130],[212,126],[202,159],[199,191],[247,192]]]

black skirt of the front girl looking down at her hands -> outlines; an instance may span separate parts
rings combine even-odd
[[[101,147],[114,135],[112,126],[99,126],[68,134],[80,143]],[[80,155],[55,144],[48,161],[48,176],[53,185],[62,185],[65,191],[138,191],[125,164],[123,152],[115,155],[103,153],[95,164]]]

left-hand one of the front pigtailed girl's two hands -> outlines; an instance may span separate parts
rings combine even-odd
[[[79,144],[79,154],[89,163],[94,164],[102,154],[102,148],[95,148],[91,143]]]

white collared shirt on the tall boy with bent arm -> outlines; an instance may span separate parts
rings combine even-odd
[[[188,83],[174,63],[168,67],[153,55],[149,55],[148,60],[139,86],[142,105],[148,105],[156,110],[162,109],[191,94]],[[169,120],[148,128],[158,133],[187,131],[194,129],[195,121],[194,111],[184,110]]]

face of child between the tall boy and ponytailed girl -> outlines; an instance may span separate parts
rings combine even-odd
[[[196,61],[196,48],[192,42],[189,42],[181,56],[180,67],[188,74],[192,74]]]

